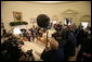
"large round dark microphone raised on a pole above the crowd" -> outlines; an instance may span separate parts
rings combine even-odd
[[[42,28],[48,28],[48,26],[50,25],[50,17],[45,14],[39,14],[37,16],[37,24]]]

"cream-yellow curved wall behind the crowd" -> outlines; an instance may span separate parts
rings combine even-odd
[[[10,22],[14,21],[13,11],[22,12],[23,21],[28,22],[27,28],[30,28],[30,18],[37,18],[38,14],[44,13],[52,20],[54,15],[57,16],[58,21],[63,22],[63,12],[71,9],[78,12],[75,23],[79,24],[79,18],[82,15],[91,15],[91,2],[89,1],[77,1],[74,3],[61,3],[61,4],[34,4],[24,1],[1,1],[1,18],[4,23],[4,27],[10,30]]]

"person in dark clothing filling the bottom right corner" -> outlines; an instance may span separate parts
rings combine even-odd
[[[90,29],[91,30],[91,29]],[[91,34],[83,32],[81,48],[77,55],[77,61],[91,61]]]

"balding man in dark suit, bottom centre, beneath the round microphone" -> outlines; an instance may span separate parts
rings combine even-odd
[[[50,42],[51,50],[43,50],[41,54],[41,59],[43,61],[63,61],[64,60],[64,52],[63,50],[58,49],[58,42],[52,41]]]

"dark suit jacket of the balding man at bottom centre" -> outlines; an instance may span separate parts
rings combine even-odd
[[[43,61],[63,61],[64,52],[63,50],[44,50],[41,54],[41,59]]]

